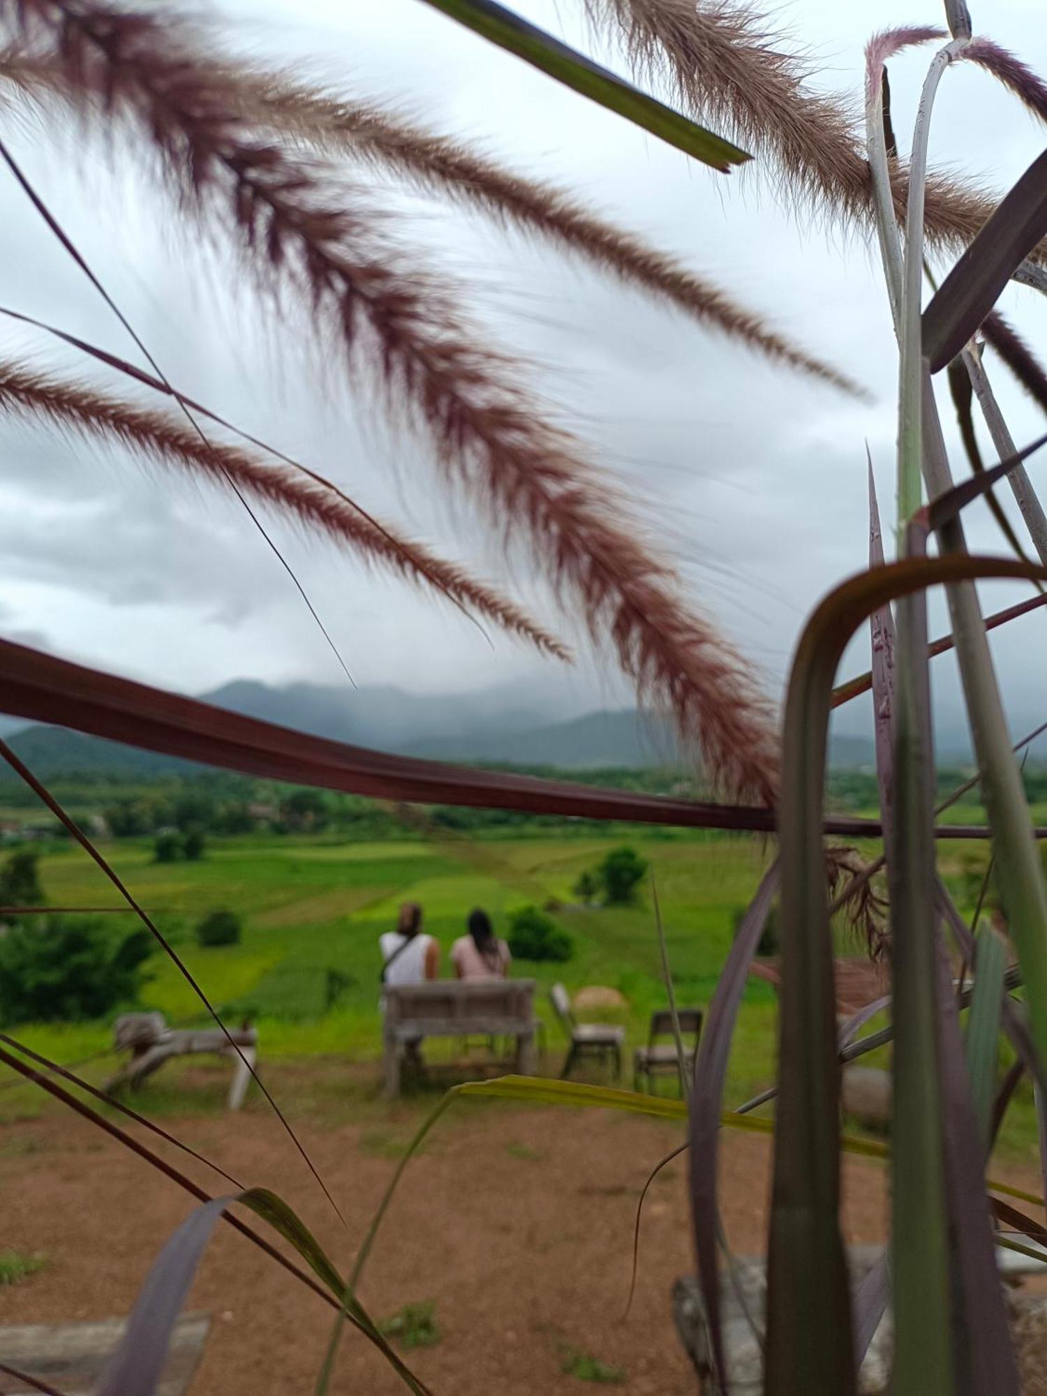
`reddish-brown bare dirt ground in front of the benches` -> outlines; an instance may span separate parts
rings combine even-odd
[[[207,1069],[184,1078],[187,1092],[197,1083],[209,1083]],[[242,1115],[165,1114],[161,1122],[244,1184],[282,1194],[345,1266],[424,1107],[367,1097],[339,1110],[328,1089],[313,1108],[320,1097],[304,1068],[274,1072],[272,1087],[288,1103],[348,1230],[260,1100]],[[137,1127],[134,1134],[147,1138]],[[403,1356],[437,1393],[584,1392],[585,1382],[563,1369],[565,1354],[581,1353],[624,1368],[625,1389],[638,1396],[691,1396],[695,1381],[669,1302],[673,1280],[692,1268],[684,1159],[663,1171],[649,1195],[637,1298],[623,1319],[637,1195],[680,1139],[671,1124],[614,1111],[456,1104],[408,1166],[360,1297],[380,1319],[405,1302],[436,1302],[440,1342]],[[159,1149],[176,1157],[169,1146]],[[733,1245],[740,1254],[759,1252],[768,1143],[725,1132],[722,1159]],[[209,1191],[229,1191],[191,1160],[179,1163]],[[0,1289],[3,1323],[126,1314],[158,1249],[191,1208],[152,1167],[64,1114],[0,1127],[0,1249],[47,1256],[38,1275]],[[882,1238],[882,1167],[847,1159],[845,1189],[849,1238]],[[194,1393],[313,1390],[331,1311],[230,1227],[219,1226],[188,1308],[214,1315]],[[332,1390],[402,1389],[383,1358],[348,1332]]]

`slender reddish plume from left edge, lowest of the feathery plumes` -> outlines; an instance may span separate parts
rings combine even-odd
[[[366,561],[380,561],[410,581],[429,582],[456,604],[530,641],[543,653],[570,659],[558,639],[496,591],[371,521],[341,491],[325,489],[320,477],[307,480],[304,473],[264,463],[236,447],[207,443],[163,412],[147,410],[82,384],[36,374],[3,360],[0,412],[17,413],[29,422],[46,419],[63,430],[127,447],[154,463],[205,476],[226,489],[233,482],[244,494],[285,517],[292,515],[304,528],[350,544]]]

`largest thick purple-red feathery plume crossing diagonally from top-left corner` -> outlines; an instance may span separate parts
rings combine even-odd
[[[529,536],[595,639],[610,634],[639,692],[701,747],[709,778],[772,801],[778,733],[751,670],[519,388],[521,364],[477,343],[445,282],[408,268],[360,198],[335,198],[328,170],[246,135],[228,84],[209,80],[176,21],[96,0],[0,0],[0,22],[61,67],[88,112],[142,130],[181,207],[223,223],[261,285],[302,295],[325,352],[339,343],[350,370],[376,373],[444,473],[505,535]]]

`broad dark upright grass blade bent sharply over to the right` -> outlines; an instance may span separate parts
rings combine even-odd
[[[800,639],[786,704],[779,819],[783,974],[766,1375],[775,1392],[847,1392],[854,1383],[838,1216],[839,1062],[821,850],[835,670],[854,628],[885,602],[935,584],[980,577],[1032,581],[1044,575],[1040,568],[1002,560],[909,558],[836,588],[814,611]]]

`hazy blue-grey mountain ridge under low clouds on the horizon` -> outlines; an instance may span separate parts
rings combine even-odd
[[[606,766],[674,766],[680,748],[670,723],[637,709],[599,709],[568,718],[561,695],[518,690],[463,694],[415,694],[376,687],[346,692],[320,684],[272,687],[236,680],[204,702],[309,732],[335,741],[376,747],[436,761],[558,766],[564,771]],[[64,727],[28,726],[10,744],[43,778],[112,773],[148,779],[166,772],[202,769],[176,757],[140,751]],[[872,743],[833,734],[831,762],[872,764]]]

